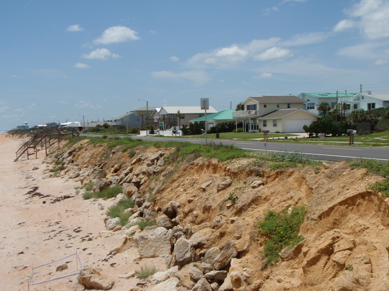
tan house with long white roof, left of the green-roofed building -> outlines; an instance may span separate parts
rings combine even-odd
[[[217,110],[212,106],[206,110],[206,113],[216,113]],[[205,115],[205,110],[201,106],[162,106],[159,110],[159,124],[156,128],[172,128],[173,126],[188,125],[190,120]]]

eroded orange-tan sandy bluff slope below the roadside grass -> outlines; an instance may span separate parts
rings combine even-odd
[[[134,150],[129,157],[120,147],[89,145],[85,140],[65,146],[60,175],[82,183],[118,176],[117,183],[133,183],[142,197],[152,196],[150,207],[158,215],[176,201],[180,210],[174,223],[186,229],[188,237],[203,238],[195,247],[197,259],[180,266],[176,290],[194,287],[194,276],[188,272],[192,266],[201,269],[207,250],[221,250],[231,242],[235,258],[222,268],[231,282],[222,290],[389,290],[389,200],[366,189],[382,177],[351,169],[347,162],[265,171],[250,159],[179,163],[173,149]],[[46,161],[54,163],[61,155],[52,154]],[[231,193],[237,197],[235,203],[228,199]],[[275,266],[263,268],[265,237],[257,221],[269,209],[302,204],[307,207],[300,231],[304,241]],[[131,245],[132,238],[125,244]],[[174,265],[171,258],[167,261],[169,267]]]

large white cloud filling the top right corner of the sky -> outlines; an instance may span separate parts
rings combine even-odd
[[[349,18],[338,22],[334,31],[359,28],[370,40],[389,37],[388,0],[361,0],[345,12]]]

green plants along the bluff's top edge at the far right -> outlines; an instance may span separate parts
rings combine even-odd
[[[376,174],[385,177],[381,182],[369,184],[368,189],[389,196],[389,163],[381,163],[376,160],[358,159],[350,163],[352,168],[365,168],[371,174]]]

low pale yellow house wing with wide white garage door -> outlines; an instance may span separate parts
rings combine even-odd
[[[310,125],[320,117],[304,109],[279,109],[258,117],[262,130],[270,132],[304,132],[303,126]]]

